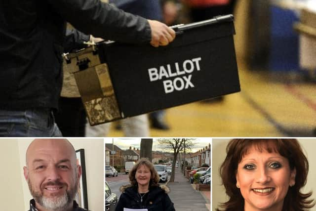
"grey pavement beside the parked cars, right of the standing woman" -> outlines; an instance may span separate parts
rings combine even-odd
[[[196,191],[180,170],[175,170],[174,182],[167,186],[177,211],[210,211],[210,191]]]

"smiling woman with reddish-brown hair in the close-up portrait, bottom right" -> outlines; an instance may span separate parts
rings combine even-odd
[[[233,139],[220,167],[229,200],[216,211],[308,211],[309,164],[296,139]]]

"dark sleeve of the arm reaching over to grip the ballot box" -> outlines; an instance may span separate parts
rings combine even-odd
[[[76,29],[107,40],[149,43],[151,28],[140,16],[100,0],[47,0]]]

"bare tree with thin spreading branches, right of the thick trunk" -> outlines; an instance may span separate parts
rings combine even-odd
[[[158,142],[160,147],[164,151],[173,152],[173,161],[172,161],[172,170],[170,176],[170,182],[174,182],[174,170],[176,166],[176,161],[179,152],[183,151],[184,149],[186,152],[191,150],[191,146],[193,146],[193,138],[159,138]]]

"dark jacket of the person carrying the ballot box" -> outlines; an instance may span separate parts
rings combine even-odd
[[[66,21],[94,37],[151,40],[146,19],[99,0],[1,0],[0,109],[58,107]]]

